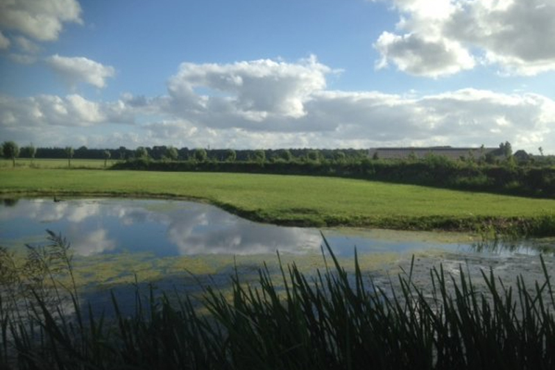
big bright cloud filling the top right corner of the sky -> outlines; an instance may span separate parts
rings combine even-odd
[[[382,0],[376,0],[382,1]],[[477,60],[504,74],[555,70],[555,3],[545,0],[391,0],[398,33],[374,47],[377,67],[393,64],[417,76],[446,76]]]

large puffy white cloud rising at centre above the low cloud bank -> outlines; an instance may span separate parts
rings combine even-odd
[[[306,115],[311,92],[325,88],[325,74],[330,72],[314,56],[299,63],[182,63],[168,90],[178,110],[216,110],[247,121],[273,115],[298,118]]]

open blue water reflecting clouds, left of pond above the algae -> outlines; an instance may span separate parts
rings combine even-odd
[[[256,224],[212,205],[129,199],[21,200],[0,207],[9,230],[0,242],[62,233],[78,255],[151,252],[155,255],[235,255],[319,251],[318,230]],[[31,238],[31,239],[33,239]]]

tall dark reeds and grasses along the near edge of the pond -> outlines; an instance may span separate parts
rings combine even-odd
[[[330,265],[316,276],[282,265],[276,283],[263,267],[256,285],[236,274],[231,297],[205,287],[200,302],[137,289],[134,314],[112,295],[115,316],[95,317],[60,283],[71,275],[69,244],[49,238],[24,271],[1,251],[1,368],[555,368],[555,296],[543,259],[545,281],[533,287],[519,277],[513,290],[484,272],[487,290],[478,292],[463,269],[455,278],[440,267],[430,271],[432,292],[413,284],[412,269],[386,291],[356,254],[348,274],[326,245]]]

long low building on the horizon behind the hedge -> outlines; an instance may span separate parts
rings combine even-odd
[[[368,149],[370,158],[379,159],[408,159],[426,158],[426,155],[443,155],[452,160],[460,160],[462,158],[474,158],[478,160],[480,157],[486,158],[486,155],[502,156],[503,153],[499,148],[453,148],[452,146],[429,146],[429,147],[405,147],[405,148],[371,148]]]

